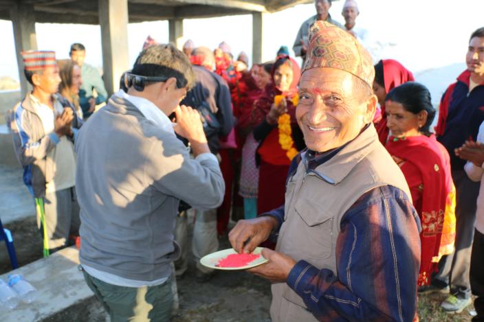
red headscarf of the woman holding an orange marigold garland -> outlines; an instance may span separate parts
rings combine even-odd
[[[276,88],[274,82],[274,73],[276,73],[275,66],[277,65],[277,62],[281,59],[289,59],[292,65],[292,83],[288,91],[281,91],[280,89]],[[269,113],[271,106],[274,103],[274,97],[276,97],[276,95],[284,95],[286,97],[287,113],[291,115],[291,123],[296,123],[296,108],[292,104],[291,99],[295,95],[298,95],[298,84],[300,77],[301,69],[296,60],[290,58],[289,56],[280,56],[277,58],[271,71],[272,82],[270,82],[270,84],[267,84],[264,89],[263,95],[259,97],[259,100],[256,100],[256,102],[254,103],[254,113],[252,113],[252,122],[254,125],[260,124],[265,118],[265,115]]]

